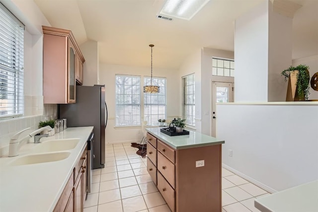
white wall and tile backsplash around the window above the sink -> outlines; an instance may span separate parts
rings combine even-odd
[[[50,26],[38,6],[31,0],[0,0],[24,25],[24,115],[0,120],[0,156],[8,153],[8,143],[16,132],[38,128],[41,120],[56,118],[57,106],[43,105],[43,33]],[[30,133],[26,131],[25,134]],[[23,136],[23,135],[21,135]]]

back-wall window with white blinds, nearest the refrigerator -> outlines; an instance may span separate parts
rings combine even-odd
[[[141,125],[140,76],[116,74],[116,126]]]

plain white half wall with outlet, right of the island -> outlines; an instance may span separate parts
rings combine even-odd
[[[217,110],[226,166],[272,192],[318,179],[318,104],[218,104]]]

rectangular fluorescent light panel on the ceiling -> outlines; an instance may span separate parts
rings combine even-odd
[[[160,15],[190,20],[210,0],[166,0]]]

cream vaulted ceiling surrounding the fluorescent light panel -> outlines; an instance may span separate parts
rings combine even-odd
[[[53,27],[72,30],[79,45],[98,42],[107,64],[178,69],[202,48],[234,51],[234,22],[263,0],[211,0],[190,21],[156,17],[164,0],[34,0]],[[293,59],[318,55],[318,0],[301,5],[293,19]]]

